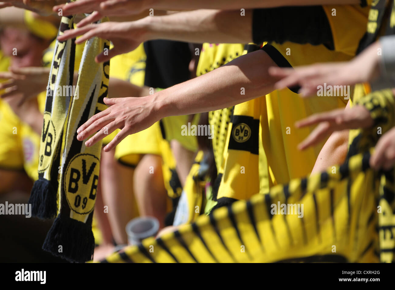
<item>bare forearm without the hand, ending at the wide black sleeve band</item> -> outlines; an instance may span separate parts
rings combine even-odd
[[[252,10],[199,9],[142,19],[148,39],[192,43],[248,43],[252,41]]]

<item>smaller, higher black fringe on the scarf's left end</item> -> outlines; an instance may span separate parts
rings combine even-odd
[[[56,191],[51,181],[39,178],[34,182],[28,203],[32,205],[32,216],[52,219],[57,214]]]

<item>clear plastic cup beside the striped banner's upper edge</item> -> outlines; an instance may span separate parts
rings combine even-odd
[[[136,217],[126,225],[128,244],[139,244],[143,239],[155,236],[158,231],[159,221],[155,217]]]

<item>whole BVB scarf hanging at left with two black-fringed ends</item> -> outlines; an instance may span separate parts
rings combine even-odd
[[[73,28],[74,17],[62,17],[59,34]],[[107,21],[106,18],[100,22]],[[49,82],[39,156],[39,180],[30,195],[32,214],[56,217],[43,249],[71,262],[90,260],[94,250],[92,218],[96,201],[102,142],[86,147],[77,129],[107,106],[109,62],[95,56],[109,49],[109,41],[95,37],[85,42],[74,92],[75,39],[56,41]],[[62,251],[59,250],[62,245]]]

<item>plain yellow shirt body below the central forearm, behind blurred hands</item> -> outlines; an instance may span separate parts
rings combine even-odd
[[[295,122],[314,113],[344,108],[345,105],[337,97],[302,99],[288,88],[266,95],[267,114],[261,117],[261,129],[271,183],[286,183],[309,174],[325,143],[299,151],[297,144],[307,138],[314,127],[297,129]]]

